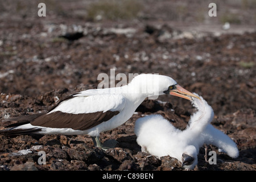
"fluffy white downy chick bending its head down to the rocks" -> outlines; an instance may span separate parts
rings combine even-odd
[[[183,131],[176,129],[162,115],[148,115],[137,119],[134,132],[142,151],[158,158],[169,155],[189,169],[196,166],[199,148],[204,143],[213,144],[232,158],[236,158],[239,155],[236,143],[210,125],[214,115],[212,107],[203,97],[192,98],[191,102],[198,111],[191,116],[187,128]]]

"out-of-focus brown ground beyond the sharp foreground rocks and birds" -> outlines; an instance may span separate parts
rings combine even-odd
[[[0,0],[0,93],[97,88],[98,74],[115,69],[171,76],[216,114],[255,114],[255,30],[255,0]]]

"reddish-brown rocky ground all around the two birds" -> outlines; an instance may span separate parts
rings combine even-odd
[[[135,17],[115,19],[107,13],[94,15],[101,6],[91,1],[48,0],[47,16],[40,18],[36,1],[1,1],[0,129],[9,124],[5,118],[47,111],[60,98],[97,88],[102,81],[98,75],[110,76],[110,69],[127,76],[159,73],[203,96],[215,113],[212,125],[240,150],[232,159],[210,145],[207,152],[217,152],[217,164],[210,165],[203,146],[194,170],[255,170],[256,6],[219,3],[222,9],[212,20],[204,3],[147,1],[136,5]],[[232,16],[223,7],[230,7]],[[229,30],[221,28],[224,20],[231,22]],[[61,37],[75,32],[83,35],[77,40]],[[184,129],[194,112],[181,98],[146,100],[129,121],[101,134],[102,142],[119,142],[107,151],[94,147],[87,135],[0,135],[0,170],[184,170],[170,156],[158,159],[141,152],[134,122],[162,114]],[[39,151],[46,153],[46,164],[38,163]]]

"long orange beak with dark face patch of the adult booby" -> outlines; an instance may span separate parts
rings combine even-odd
[[[169,89],[166,90],[164,93],[169,93],[172,96],[185,98],[187,100],[192,100],[192,97],[195,97],[201,100],[198,96],[196,96],[195,94],[192,94],[191,92],[188,92],[188,90],[182,88],[180,85],[170,86]]]

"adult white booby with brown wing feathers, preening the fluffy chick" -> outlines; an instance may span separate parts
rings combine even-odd
[[[137,107],[150,96],[171,94],[191,99],[197,97],[168,76],[141,74],[130,84],[105,89],[89,89],[59,101],[47,113],[23,115],[7,119],[18,121],[0,134],[88,134],[97,147],[102,146],[99,135],[125,123]],[[113,147],[113,146],[109,146]]]

